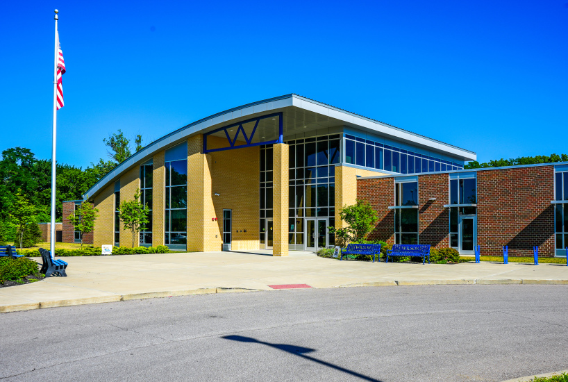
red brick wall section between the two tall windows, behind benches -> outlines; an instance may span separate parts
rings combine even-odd
[[[436,198],[435,201],[428,199]],[[449,247],[449,175],[418,176],[418,242]]]

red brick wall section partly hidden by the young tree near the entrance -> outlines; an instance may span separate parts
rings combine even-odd
[[[375,229],[369,233],[369,240],[383,240],[394,243],[394,178],[370,178],[357,180],[357,199],[366,200],[378,213]]]

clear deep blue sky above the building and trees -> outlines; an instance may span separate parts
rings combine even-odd
[[[60,163],[292,92],[480,161],[568,153],[567,0],[12,1],[0,150],[51,157],[54,8]]]

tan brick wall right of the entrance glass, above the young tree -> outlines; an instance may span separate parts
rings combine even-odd
[[[344,227],[340,209],[357,201],[357,176],[387,175],[383,172],[349,166],[335,166],[335,228]]]

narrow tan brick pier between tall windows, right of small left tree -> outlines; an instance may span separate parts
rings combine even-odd
[[[164,245],[165,232],[165,151],[153,156],[152,166],[152,246]]]

